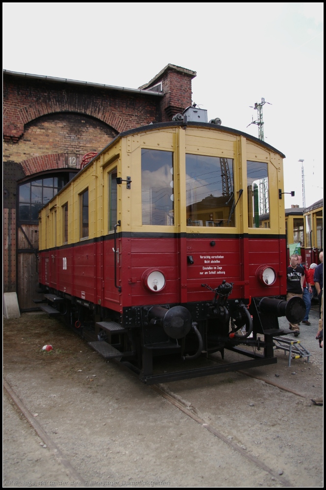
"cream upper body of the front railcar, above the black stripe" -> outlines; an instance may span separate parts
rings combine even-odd
[[[155,154],[154,150],[167,152],[165,154],[166,160],[170,158],[171,154],[171,176],[169,175],[169,177],[171,177],[173,185],[171,187],[171,195],[173,195],[174,201],[169,203],[171,208],[169,211],[174,216],[170,216],[170,220],[167,219],[163,223],[163,228],[161,228],[162,223],[160,220],[156,219],[155,221],[153,219],[150,222],[149,216],[145,216],[148,203],[144,202],[144,194],[149,192],[149,189],[146,188],[146,169],[143,170],[142,174],[142,154],[144,159],[144,153],[150,152],[150,150],[152,150],[152,154],[149,155],[147,165],[153,163],[153,160],[151,162],[150,159],[155,158],[153,156]],[[159,158],[159,156],[158,154],[156,158]],[[284,208],[283,202],[279,202],[277,196],[274,196],[274,186],[275,188],[277,186],[283,188],[283,157],[284,155],[275,148],[250,135],[236,132],[223,126],[214,127],[213,124],[201,123],[196,125],[195,123],[188,123],[186,128],[183,128],[177,123],[160,123],[121,133],[43,208],[41,213],[42,220],[45,216],[49,216],[50,209],[53,206],[60,207],[63,206],[62,201],[68,202],[70,227],[66,242],[62,227],[59,226],[56,236],[49,234],[49,230],[48,234],[45,233],[46,230],[43,227],[43,233],[40,235],[41,249],[64,245],[65,243],[76,243],[81,238],[86,238],[80,237],[79,203],[77,202],[78,196],[81,196],[86,190],[89,192],[90,218],[97,218],[97,220],[90,220],[87,238],[99,237],[112,231],[108,221],[104,219],[108,211],[108,182],[105,177],[114,168],[117,169],[118,177],[126,179],[130,174],[132,181],[131,193],[126,189],[125,182],[118,188],[118,200],[120,202],[118,203],[117,218],[120,219],[124,213],[130,213],[130,215],[124,215],[125,218],[130,216],[130,219],[125,219],[122,222],[120,230],[122,232],[146,232],[145,230],[148,230],[160,233],[198,233],[199,228],[202,226],[209,226],[211,228],[209,232],[213,234],[224,234],[234,231],[236,234],[284,235],[284,225],[281,226],[283,216],[281,220],[279,216]],[[221,166],[221,173],[223,171],[228,173],[224,177],[224,182],[222,182],[224,187],[222,188],[221,186],[224,197],[230,197],[234,192],[234,197],[237,200],[240,189],[243,189],[244,193],[247,194],[247,186],[254,181],[250,174],[254,175],[260,172],[263,176],[256,180],[268,180],[269,189],[272,189],[273,192],[271,193],[269,189],[264,189],[265,193],[267,191],[269,194],[269,203],[267,203],[267,207],[265,203],[265,210],[270,207],[273,210],[273,215],[266,230],[259,229],[258,231],[256,228],[259,227],[259,224],[248,221],[247,217],[250,210],[248,210],[248,199],[244,198],[245,195],[237,204],[235,216],[229,219],[229,214],[226,216],[226,205],[229,208],[231,207],[227,203],[229,199],[224,199],[224,201],[220,199],[221,202],[218,202],[217,199],[221,196],[213,196],[216,200],[209,202],[207,198],[210,195],[205,196],[204,192],[202,192],[204,197],[201,201],[206,198],[205,202],[201,202],[199,199],[196,202],[191,202],[192,206],[198,204],[198,207],[201,207],[197,211],[198,217],[200,218],[201,215],[204,215],[204,207],[207,211],[206,215],[207,213],[209,215],[211,214],[208,212],[209,209],[211,208],[214,214],[218,206],[221,210],[221,220],[217,221],[215,216],[213,220],[189,220],[188,203],[191,197],[188,195],[190,195],[191,191],[194,192],[191,187],[196,187],[193,184],[194,182],[196,184],[199,180],[204,182],[203,185],[207,184],[204,180],[205,176],[197,174],[196,168],[205,165],[208,171],[211,171],[215,162],[210,160],[210,158],[225,160],[223,164],[218,163]],[[230,160],[230,162],[226,160]],[[251,165],[248,172],[247,162]],[[262,163],[264,168],[257,170],[257,166],[253,165],[254,163]],[[164,164],[168,165],[168,162],[166,161]],[[224,166],[222,167],[222,165]],[[229,174],[230,166],[233,169],[231,175]],[[155,173],[151,172],[151,178],[160,180],[162,177],[160,172],[163,172],[163,168],[164,165],[158,168]],[[194,175],[189,175],[189,172]],[[219,175],[220,179],[222,178],[221,173]],[[167,176],[165,175],[164,178],[167,179]],[[217,189],[213,189],[213,191],[217,191]],[[100,199],[102,202],[100,202]],[[129,202],[130,199],[132,200]],[[276,208],[278,208],[279,212],[277,212]],[[73,218],[73,223],[71,222],[72,214],[76,215]],[[57,217],[58,224],[60,224],[60,221],[62,221],[61,216]],[[172,221],[174,222],[172,223]],[[146,226],[146,229],[144,229],[144,226]],[[153,228],[147,228],[148,226],[153,226]],[[157,226],[160,228],[158,229]]]

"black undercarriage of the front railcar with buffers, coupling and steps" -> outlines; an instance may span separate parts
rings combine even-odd
[[[275,364],[273,337],[289,333],[279,328],[277,317],[301,321],[305,312],[301,298],[288,302],[284,296],[252,298],[251,302],[228,300],[232,283],[223,281],[215,290],[202,286],[214,293],[210,303],[127,307],[123,315],[47,288],[48,305],[41,309],[65,317],[105,359],[129,368],[148,385]],[[223,360],[225,350],[250,359],[195,368],[191,365],[199,357],[217,363],[211,354],[220,352]],[[184,369],[154,372],[154,358],[165,356],[175,364],[176,355]]]

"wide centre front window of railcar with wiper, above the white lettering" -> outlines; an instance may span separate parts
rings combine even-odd
[[[233,159],[186,154],[188,226],[235,226]]]

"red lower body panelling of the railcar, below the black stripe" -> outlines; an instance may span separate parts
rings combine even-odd
[[[122,312],[123,307],[208,301],[225,279],[234,283],[232,299],[286,294],[284,238],[159,238],[112,236],[65,245],[39,253],[39,282],[96,305]],[[261,265],[276,271],[273,285],[263,285]],[[146,270],[165,277],[161,291],[149,291]],[[121,288],[121,291],[119,291]]]

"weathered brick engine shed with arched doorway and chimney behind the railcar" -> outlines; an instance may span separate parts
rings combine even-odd
[[[138,89],[3,71],[3,278],[21,310],[37,297],[38,210],[117,134],[171,121],[196,72],[167,65]]]

